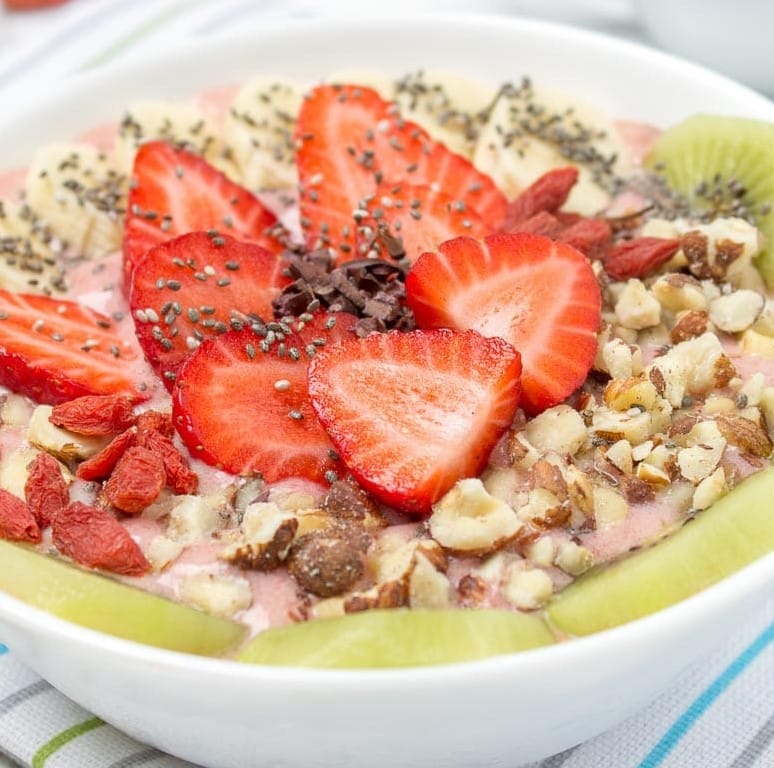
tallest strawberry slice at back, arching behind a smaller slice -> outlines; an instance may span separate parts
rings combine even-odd
[[[370,88],[313,89],[301,106],[296,138],[306,243],[330,246],[339,259],[355,246],[353,211],[385,180],[432,184],[492,230],[505,217],[507,201],[489,176],[401,118]]]

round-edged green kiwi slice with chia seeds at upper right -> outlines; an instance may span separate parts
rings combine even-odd
[[[766,284],[774,287],[774,123],[720,115],[694,115],[656,140],[646,166],[697,210],[734,215],[739,207],[765,235],[758,258]],[[737,182],[736,193],[729,183]],[[717,194],[719,202],[711,198]]]

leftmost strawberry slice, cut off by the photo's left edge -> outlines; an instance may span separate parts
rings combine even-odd
[[[72,301],[0,290],[0,384],[52,405],[82,395],[144,399],[139,349],[112,326]]]

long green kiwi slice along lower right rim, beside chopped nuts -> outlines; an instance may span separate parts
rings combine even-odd
[[[589,635],[654,613],[774,551],[774,468],[758,472],[670,537],[589,571],[548,606],[551,623]]]

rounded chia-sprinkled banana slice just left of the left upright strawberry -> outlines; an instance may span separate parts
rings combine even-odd
[[[88,144],[49,144],[27,173],[26,200],[71,253],[92,258],[121,246],[128,178]]]

